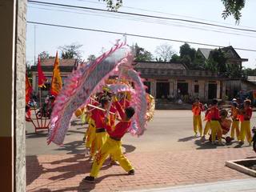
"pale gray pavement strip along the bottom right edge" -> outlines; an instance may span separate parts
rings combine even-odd
[[[256,178],[248,178],[224,182],[207,182],[187,186],[171,186],[150,190],[130,190],[130,192],[255,192],[255,183]]]

